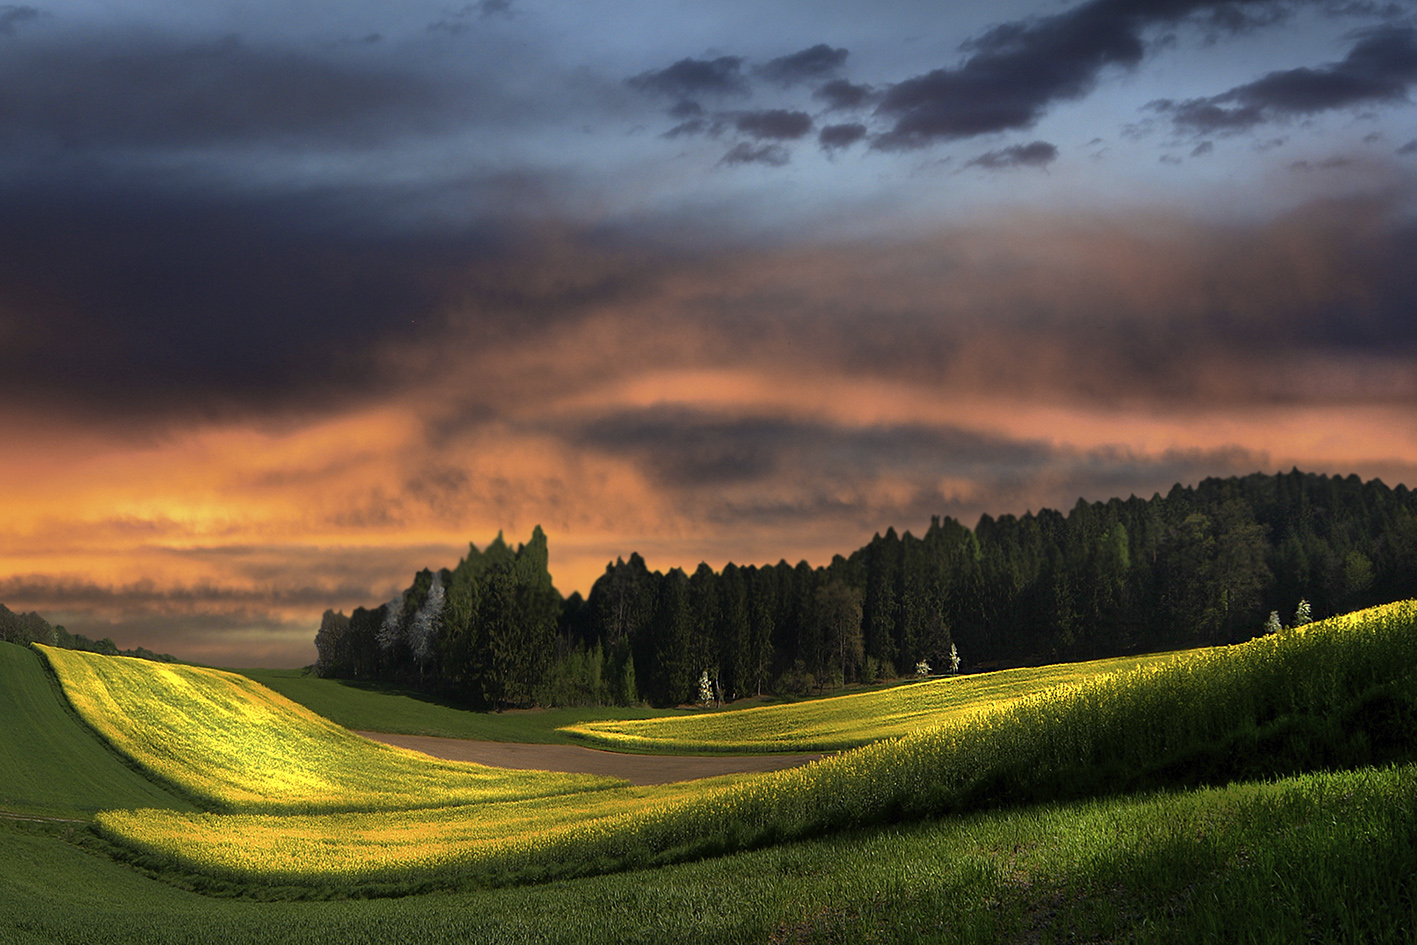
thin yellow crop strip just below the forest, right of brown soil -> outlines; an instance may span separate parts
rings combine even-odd
[[[932,679],[850,696],[784,706],[649,720],[580,721],[565,734],[609,751],[652,754],[809,752],[859,748],[930,725],[949,724],[981,708],[998,708],[1054,686],[1135,670],[1186,653],[1124,656]]]

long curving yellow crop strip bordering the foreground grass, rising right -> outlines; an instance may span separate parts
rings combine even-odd
[[[98,825],[143,856],[234,880],[421,888],[635,868],[995,806],[1357,768],[1410,757],[1414,630],[1417,604],[1373,608],[701,789],[377,822],[137,810],[101,815]],[[581,803],[585,816],[574,816]]]

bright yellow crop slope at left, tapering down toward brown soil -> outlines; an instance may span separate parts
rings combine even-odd
[[[439,761],[373,742],[222,670],[38,649],[89,727],[207,808],[388,810],[623,785]]]

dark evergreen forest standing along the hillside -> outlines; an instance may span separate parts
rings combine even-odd
[[[327,612],[322,676],[383,679],[482,706],[805,693],[904,676],[1248,639],[1301,599],[1315,619],[1417,596],[1417,494],[1292,470],[1207,479],[1063,514],[934,519],[825,567],[631,554],[584,599],[551,585],[540,527],[349,618]]]

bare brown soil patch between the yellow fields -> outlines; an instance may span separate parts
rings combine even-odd
[[[635,785],[662,785],[673,781],[694,781],[744,771],[778,771],[795,768],[822,755],[625,755],[597,751],[580,745],[523,745],[502,741],[470,741],[466,738],[434,738],[432,735],[387,735],[361,731],[357,735],[385,745],[412,748],[425,755],[449,761],[475,761],[497,768],[533,768],[537,771],[572,771],[587,775],[623,778]]]

